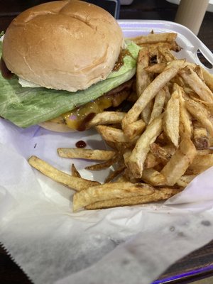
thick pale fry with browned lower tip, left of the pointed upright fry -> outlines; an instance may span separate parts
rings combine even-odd
[[[150,145],[155,141],[163,130],[163,116],[159,116],[151,122],[143,132],[135,148],[129,157],[129,170],[135,178],[141,178],[143,173],[143,164],[150,150]]]

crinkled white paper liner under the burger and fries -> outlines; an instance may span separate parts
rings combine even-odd
[[[0,119],[0,240],[33,283],[151,283],[168,266],[206,244],[213,234],[213,169],[165,204],[72,213],[73,191],[33,170],[38,155],[57,168],[85,160],[58,157],[58,147],[105,148],[95,131],[53,133],[18,129]]]

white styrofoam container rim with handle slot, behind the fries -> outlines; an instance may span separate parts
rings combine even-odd
[[[186,58],[190,62],[202,65],[209,72],[213,73],[213,68],[205,67],[197,56],[197,51],[200,51],[211,65],[213,65],[213,54],[190,29],[179,23],[159,20],[119,20],[124,36],[131,38],[137,35],[147,35],[152,30],[155,33],[178,33],[177,43],[182,47],[177,58]]]

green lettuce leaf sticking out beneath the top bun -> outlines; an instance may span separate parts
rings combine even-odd
[[[132,56],[126,55],[124,65],[111,72],[106,80],[78,92],[58,91],[55,89],[21,87],[18,79],[5,80],[0,75],[0,116],[26,128],[48,121],[82,104],[86,104],[120,84],[128,81],[136,72],[138,45],[127,43]],[[0,45],[1,55],[1,45]]]

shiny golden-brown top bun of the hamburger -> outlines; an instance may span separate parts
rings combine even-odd
[[[11,22],[2,56],[23,80],[75,92],[104,80],[123,45],[119,24],[104,9],[84,1],[52,1]]]

